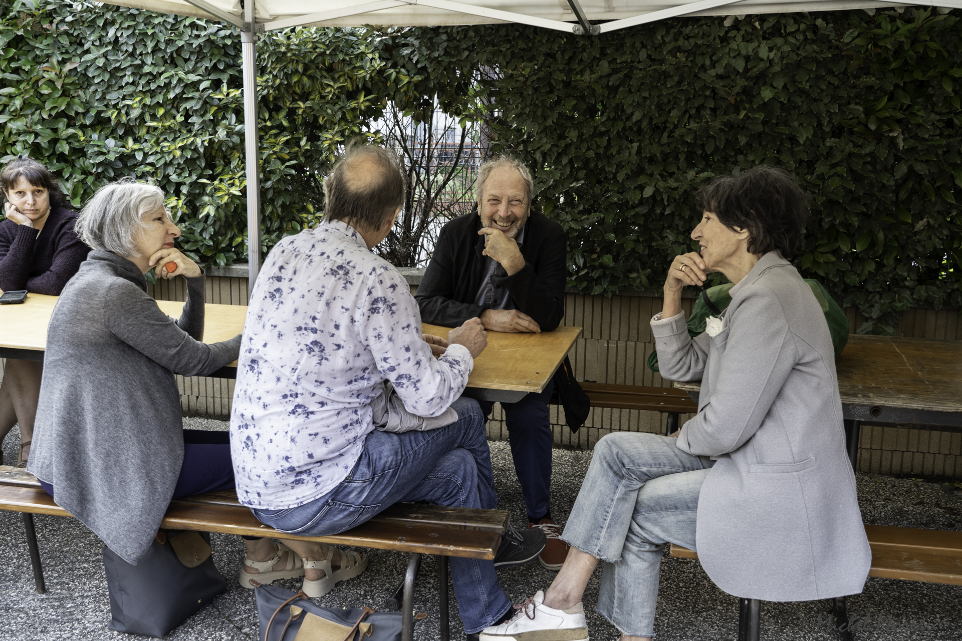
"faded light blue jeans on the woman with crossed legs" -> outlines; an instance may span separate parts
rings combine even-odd
[[[662,547],[695,550],[698,493],[714,461],[657,434],[608,434],[562,538],[604,561],[598,614],[624,634],[652,636]]]

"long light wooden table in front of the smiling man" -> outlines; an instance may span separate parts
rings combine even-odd
[[[20,305],[0,305],[0,358],[43,360],[47,325],[57,296],[29,294]],[[178,318],[184,304],[157,301],[165,314]],[[229,340],[243,330],[247,308],[207,304],[204,342]],[[447,337],[449,328],[424,324],[423,333]],[[488,347],[474,359],[465,395],[484,401],[514,403],[528,392],[541,392],[581,333],[580,327],[559,327],[543,333],[488,333]],[[216,378],[237,377],[237,361],[216,371]]]

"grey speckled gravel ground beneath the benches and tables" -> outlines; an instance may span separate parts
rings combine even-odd
[[[186,427],[224,430],[226,424],[207,419],[187,419]],[[16,431],[3,445],[7,461],[15,460]],[[506,443],[493,442],[494,477],[498,481],[499,507],[525,526],[518,482]],[[590,452],[554,451],[553,511],[563,519],[570,512],[578,487],[588,470]],[[945,484],[874,477],[859,474],[859,501],[867,522],[879,525],[962,530],[962,490],[950,492]],[[75,519],[53,516],[36,518],[40,554],[43,558],[47,594],[34,591],[30,559],[20,514],[0,511],[0,638],[134,639],[107,629],[110,604],[101,561],[101,543]],[[745,535],[751,535],[747,524]],[[258,624],[254,594],[238,585],[243,558],[241,539],[214,534],[215,563],[228,579],[228,591],[193,616],[167,638],[176,641],[256,641]],[[406,558],[391,552],[367,551],[367,572],[341,583],[321,604],[328,606],[370,604],[380,607],[404,573]],[[425,556],[416,590],[419,611],[431,613],[418,624],[419,640],[436,639],[437,566]],[[544,589],[554,573],[537,563],[509,568],[500,573],[508,596],[519,602],[535,590]],[[595,640],[614,640],[618,631],[595,614],[600,570],[588,586],[585,604],[589,628]],[[296,590],[297,581],[278,584]],[[913,639],[962,639],[962,586],[926,584],[895,579],[869,579],[865,591],[849,599],[859,641]],[[452,639],[462,639],[463,629],[452,599]],[[828,623],[827,602],[762,605],[763,639],[838,639]],[[697,561],[673,559],[662,562],[661,593],[655,624],[659,641],[735,639],[738,601],[715,587]],[[146,637],[142,637],[146,638]]]

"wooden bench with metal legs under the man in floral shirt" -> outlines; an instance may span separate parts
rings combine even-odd
[[[10,466],[0,466],[0,509],[22,513],[37,591],[43,594],[46,587],[33,515],[72,515],[54,503],[50,495],[40,487],[36,477]],[[402,641],[414,639],[414,581],[418,574],[420,555],[438,555],[441,638],[447,641],[447,557],[493,559],[508,519],[508,512],[496,509],[397,504],[357,528],[334,536],[297,536],[274,530],[258,521],[249,508],[238,503],[234,492],[212,492],[171,502],[161,527],[168,530],[200,530],[300,539],[408,553],[408,567],[401,596]]]

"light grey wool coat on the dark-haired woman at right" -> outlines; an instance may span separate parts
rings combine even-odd
[[[678,448],[717,456],[698,496],[696,549],[725,592],[810,601],[862,591],[872,553],[848,462],[831,336],[795,267],[770,252],[689,337],[653,324],[661,374],[701,381]]]

